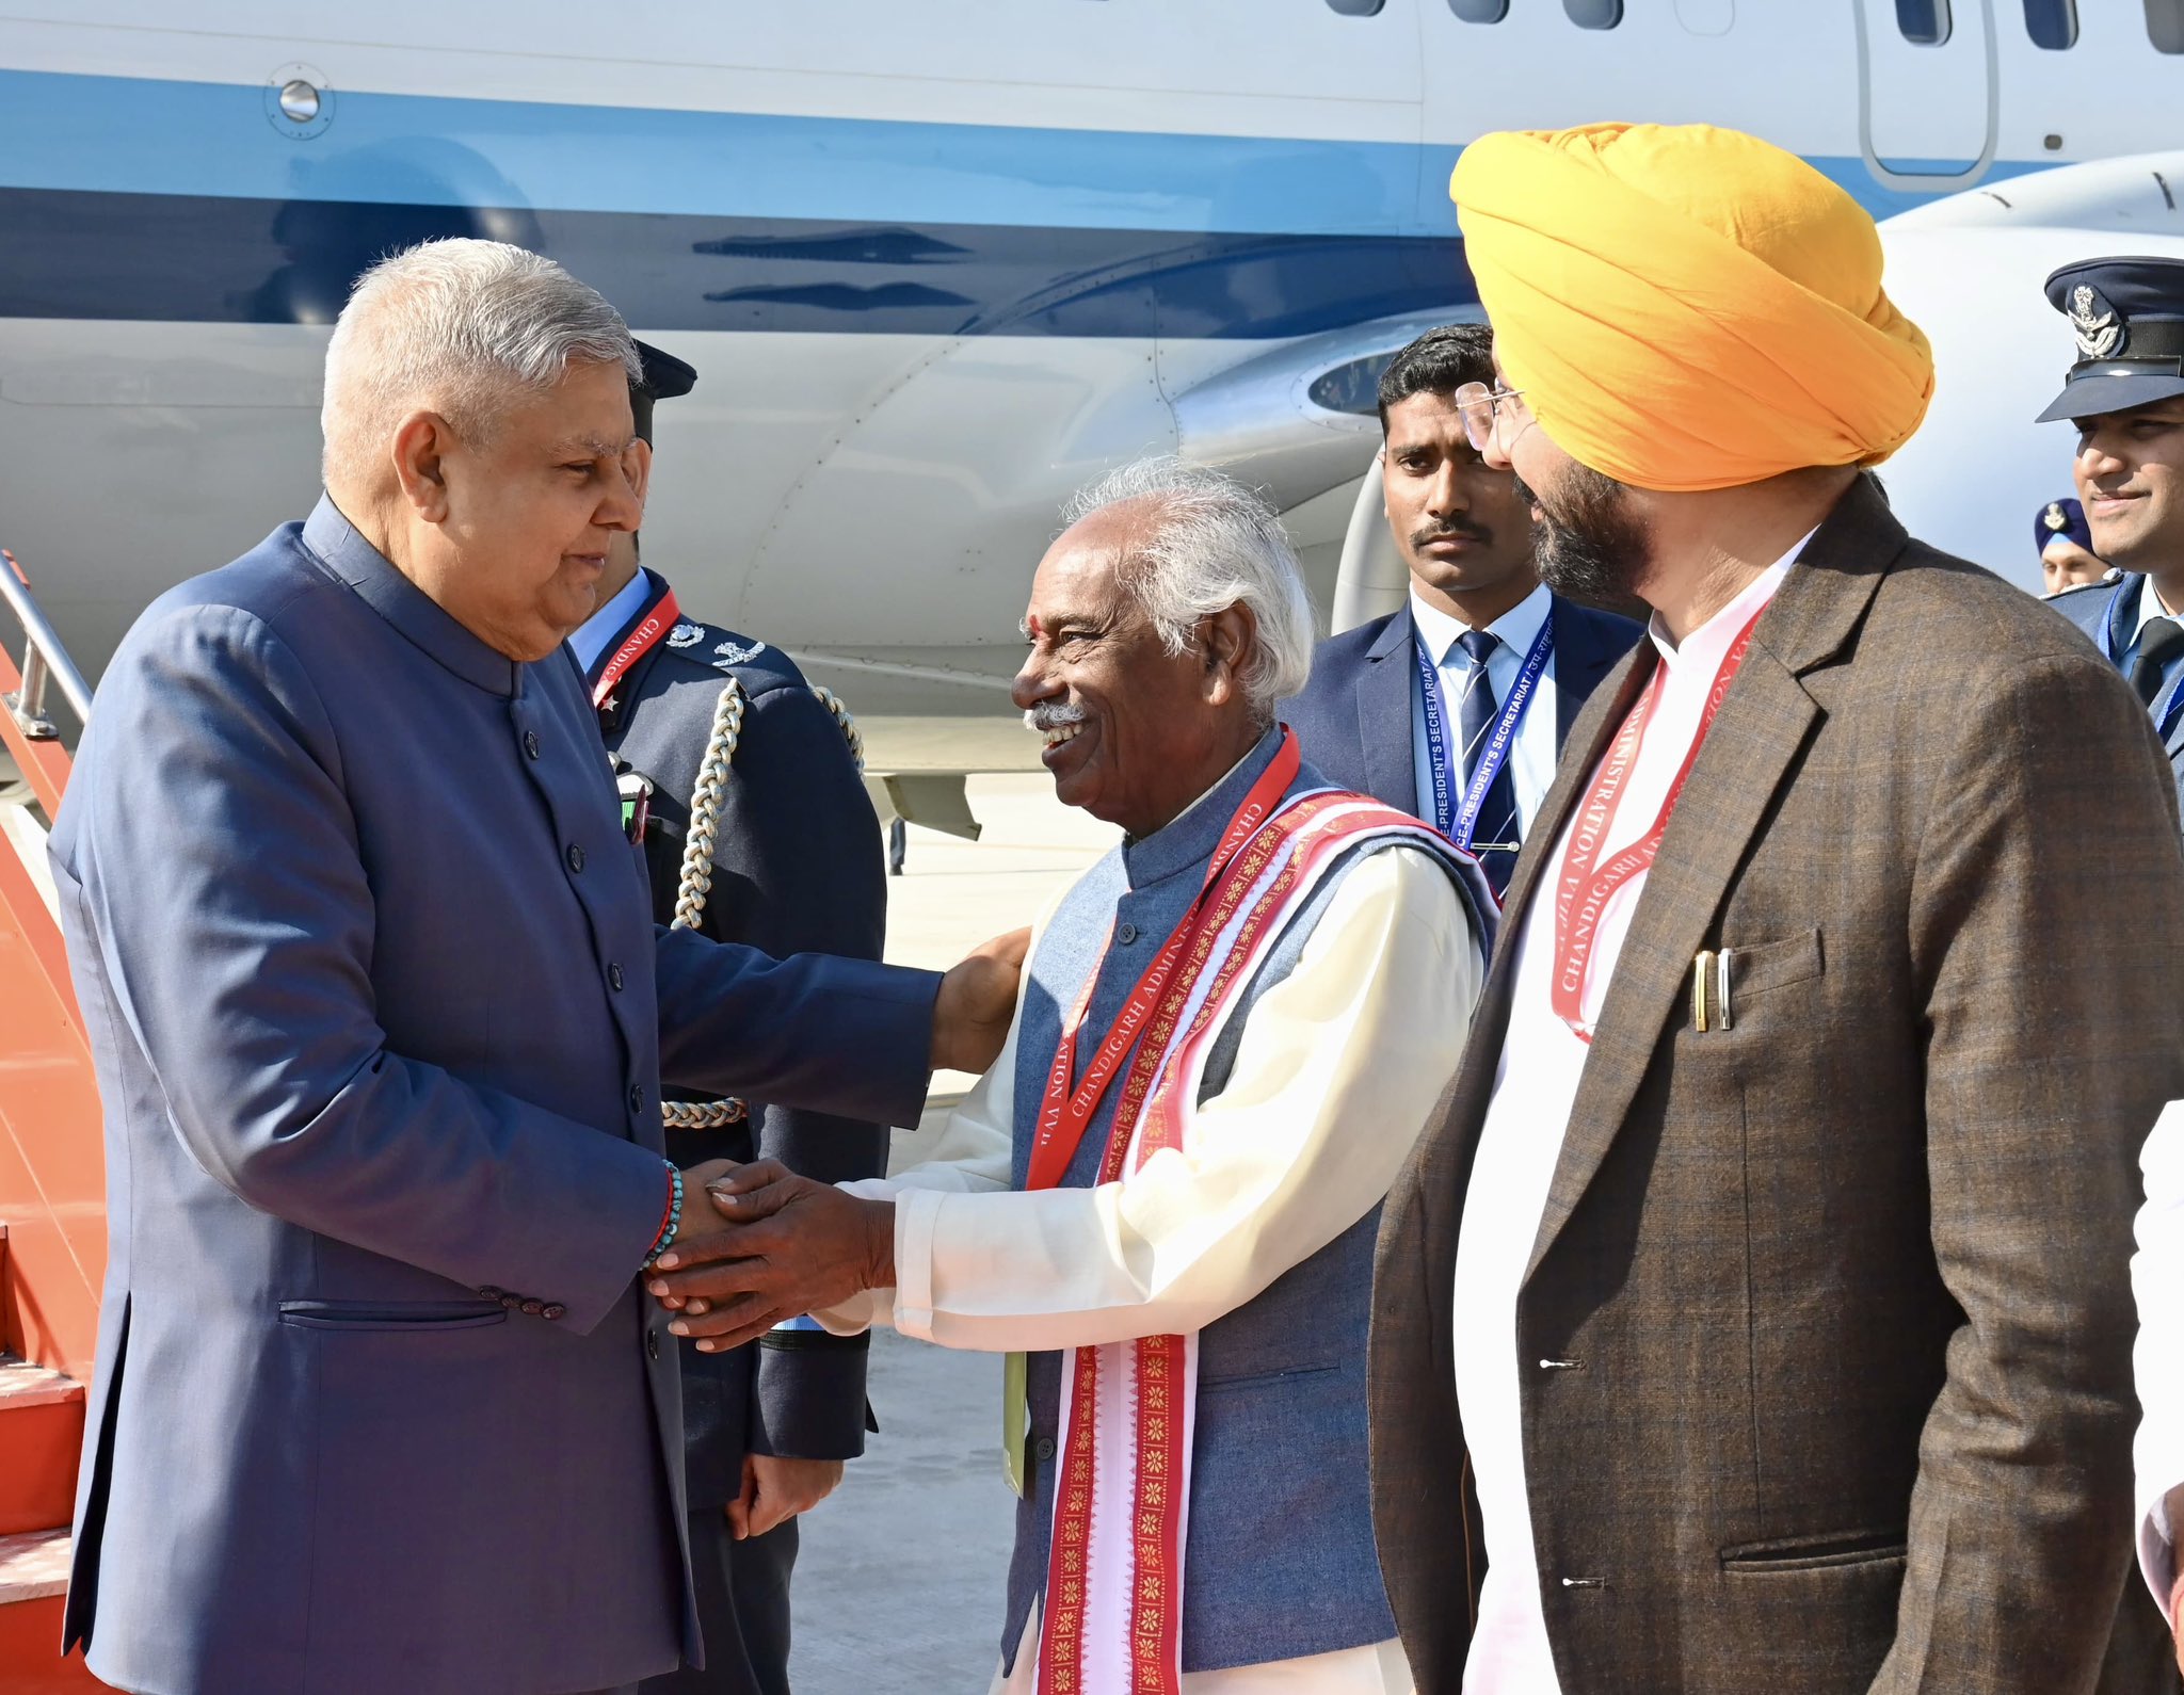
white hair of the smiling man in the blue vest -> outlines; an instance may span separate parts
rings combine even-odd
[[[1275,703],[1302,692],[1313,675],[1313,596],[1273,507],[1221,472],[1158,457],[1109,472],[1061,518],[1077,524],[1125,502],[1153,507],[1123,581],[1162,644],[1182,653],[1201,618],[1249,607],[1258,642],[1243,666],[1243,695],[1260,723],[1273,723]]]

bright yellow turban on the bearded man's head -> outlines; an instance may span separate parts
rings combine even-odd
[[[1804,159],[1708,125],[1503,131],[1448,181],[1494,352],[1555,443],[1642,489],[1878,465],[1933,354],[1880,234]]]

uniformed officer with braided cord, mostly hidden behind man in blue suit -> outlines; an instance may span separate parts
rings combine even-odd
[[[638,343],[638,435],[697,371]],[[612,542],[598,612],[572,638],[614,756],[622,817],[644,843],[662,924],[773,955],[878,959],[887,920],[880,828],[856,730],[778,647],[686,618],[675,590]],[[745,1101],[664,1101],[668,1153],[778,1158],[828,1182],[878,1177],[887,1129]],[[690,1560],[705,1669],[644,1684],[666,1695],[786,1695],[795,1514],[863,1453],[865,1337],[802,1319],[756,1346],[681,1346]]]

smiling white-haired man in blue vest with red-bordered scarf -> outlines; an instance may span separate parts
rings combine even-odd
[[[828,1308],[1029,1352],[998,1691],[1406,1695],[1365,1470],[1374,1217],[1494,900],[1275,723],[1313,618],[1254,494],[1147,461],[1072,518],[1016,703],[1055,795],[1123,843],[1040,924],[926,1162],[847,1195],[749,1166],[738,1258],[655,1293],[701,1346]]]

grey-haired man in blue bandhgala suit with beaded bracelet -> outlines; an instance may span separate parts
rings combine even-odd
[[[563,638],[636,529],[620,317],[428,242],[328,345],[325,498],[155,601],[52,865],[111,1254],[68,1638],[157,1695],[548,1695],[697,1656],[662,1079],[913,1123],[948,979],[655,935]]]

